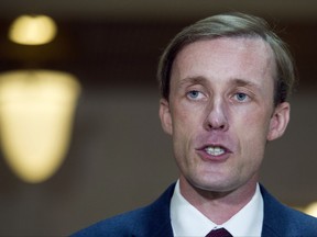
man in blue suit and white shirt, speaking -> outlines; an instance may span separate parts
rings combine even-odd
[[[186,27],[158,79],[178,181],[153,204],[75,236],[317,236],[316,218],[258,183],[266,143],[288,124],[294,82],[291,55],[265,21],[233,13]]]

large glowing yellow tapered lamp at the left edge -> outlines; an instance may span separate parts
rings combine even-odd
[[[22,180],[48,179],[62,165],[80,86],[69,74],[17,70],[0,75],[4,158]]]

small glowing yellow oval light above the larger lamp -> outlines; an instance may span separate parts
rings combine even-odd
[[[13,21],[9,38],[18,44],[42,45],[53,41],[56,31],[55,22],[47,15],[21,15]]]

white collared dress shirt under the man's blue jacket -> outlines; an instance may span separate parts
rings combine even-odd
[[[206,236],[214,228],[226,228],[232,236],[261,236],[263,198],[259,184],[251,201],[222,225],[217,225],[185,200],[177,181],[171,200],[171,219],[174,236]]]

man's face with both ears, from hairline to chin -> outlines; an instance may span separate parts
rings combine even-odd
[[[273,105],[274,74],[260,38],[198,41],[178,53],[160,116],[181,181],[217,192],[258,181],[266,142],[288,123],[288,103]]]

